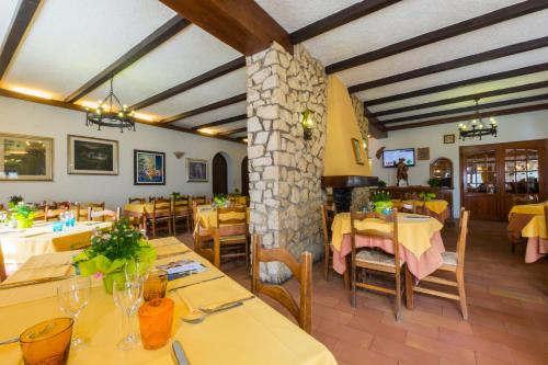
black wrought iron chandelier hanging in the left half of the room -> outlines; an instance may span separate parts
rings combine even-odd
[[[134,112],[128,111],[127,105],[122,105],[119,99],[114,93],[113,83],[114,78],[111,79],[109,95],[104,100],[99,101],[95,109],[91,111],[85,109],[85,125],[96,125],[99,130],[104,126],[119,128],[121,133],[124,133],[124,129],[135,132]]]

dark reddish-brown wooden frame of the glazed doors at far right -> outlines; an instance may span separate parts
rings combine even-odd
[[[503,202],[503,197],[506,195],[506,186],[504,182],[505,171],[504,171],[504,150],[507,148],[513,149],[539,149],[538,153],[538,196],[540,201],[545,201],[548,198],[548,159],[546,158],[546,152],[548,151],[548,138],[546,139],[532,139],[532,140],[516,140],[516,141],[507,141],[507,142],[499,142],[499,144],[484,144],[484,145],[469,145],[469,146],[460,146],[459,147],[459,195],[460,195],[460,206],[465,206],[465,164],[463,155],[464,151],[473,150],[473,149],[494,149],[495,150],[495,171],[496,171],[496,184],[499,186],[499,191],[496,192],[498,204],[501,205]],[[502,161],[502,163],[501,163]],[[540,171],[540,168],[543,171]],[[543,173],[540,173],[543,172]],[[502,217],[503,207],[499,207],[499,218]]]

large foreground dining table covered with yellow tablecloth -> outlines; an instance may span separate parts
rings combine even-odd
[[[174,237],[149,241],[157,250],[156,264],[193,260],[206,270],[168,283],[167,297],[174,301],[172,341],[178,340],[192,365],[335,365],[331,352],[310,334],[252,295],[247,288],[212,265]],[[165,254],[165,252],[172,252]],[[42,265],[66,264],[75,252],[45,255]],[[34,259],[36,264],[36,259]],[[0,341],[23,332],[46,319],[62,317],[55,298],[59,282],[1,289]],[[196,308],[241,301],[241,305],[212,316],[199,323],[181,319]],[[92,280],[92,293],[75,324],[75,332],[84,339],[84,346],[70,352],[70,365],[132,364],[172,365],[171,345],[158,350],[137,346],[119,351],[123,313],[112,295],[105,293],[98,278]],[[20,365],[19,343],[0,346],[2,365]]]

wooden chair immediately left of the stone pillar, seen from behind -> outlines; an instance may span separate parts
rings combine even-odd
[[[249,235],[248,214],[246,206],[217,208],[217,227],[212,229],[214,240],[214,265],[220,269],[221,259],[244,258],[246,267],[249,267]],[[231,226],[231,233],[222,233]],[[243,250],[242,250],[243,249]]]

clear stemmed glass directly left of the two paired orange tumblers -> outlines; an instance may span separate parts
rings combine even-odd
[[[129,275],[128,275],[129,276]],[[134,276],[134,280],[114,281],[112,295],[114,303],[122,310],[122,327],[124,338],[118,342],[118,349],[127,351],[140,343],[139,333],[135,330],[135,313],[142,301],[142,277]]]

